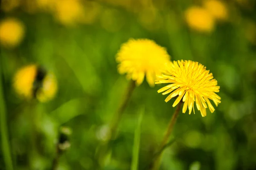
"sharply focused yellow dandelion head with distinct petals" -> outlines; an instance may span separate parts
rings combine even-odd
[[[178,60],[177,62],[169,62],[166,73],[159,77],[156,84],[171,83],[160,90],[158,93],[169,94],[165,99],[168,102],[175,96],[178,96],[173,107],[175,107],[182,99],[184,102],[182,112],[185,113],[189,108],[189,114],[194,109],[194,102],[196,108],[201,112],[202,116],[206,116],[207,105],[209,110],[213,113],[213,108],[209,99],[211,99],[216,106],[220,103],[221,97],[215,94],[219,92],[217,80],[213,79],[212,73],[206,70],[204,65],[193,61]]]

